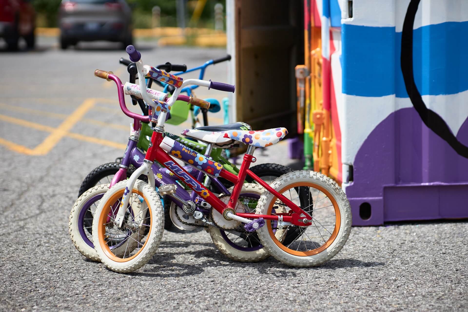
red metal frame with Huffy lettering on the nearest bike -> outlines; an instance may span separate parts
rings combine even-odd
[[[260,179],[256,174],[249,170],[250,164],[253,162],[252,160],[254,157],[249,154],[245,154],[241,168],[239,170],[239,174],[235,175],[230,173],[229,171],[225,170],[224,168],[221,169],[219,173],[219,177],[227,179],[234,183],[234,190],[229,198],[229,202],[227,204],[221,202],[221,200],[214,195],[209,189],[206,189],[202,184],[200,184],[197,179],[195,179],[190,173],[188,173],[183,167],[179,166],[172,157],[170,157],[159,145],[162,141],[162,133],[154,131],[153,135],[151,136],[151,144],[146,152],[145,159],[149,161],[158,161],[164,167],[168,168],[173,174],[176,174],[182,181],[185,182],[194,192],[196,192],[199,196],[202,196],[206,202],[208,202],[212,208],[219,211],[219,213],[223,214],[225,210],[230,209],[234,210],[235,204],[239,198],[241,193],[242,184],[245,181],[245,177],[248,174],[251,176],[255,181],[257,181],[261,186],[267,189],[270,193],[276,196],[279,200],[285,203],[293,212],[292,213],[282,213],[278,215],[257,215],[254,213],[241,213],[236,212],[235,215],[242,217],[242,218],[264,218],[265,220],[278,220],[279,217],[282,217],[284,222],[291,222],[293,225],[307,225],[302,222],[302,219],[312,219],[312,217],[302,210],[299,206],[293,203],[291,200],[287,199],[282,194],[279,194],[276,190],[271,188],[265,181]],[[205,193],[202,193],[205,192]],[[207,193],[206,193],[207,192]]]

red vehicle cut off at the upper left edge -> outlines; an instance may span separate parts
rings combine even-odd
[[[23,37],[28,48],[34,48],[36,12],[29,0],[0,0],[0,37],[8,50],[18,49],[18,39]]]

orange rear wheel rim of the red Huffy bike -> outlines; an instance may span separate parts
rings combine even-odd
[[[310,250],[310,251],[297,251],[297,250],[294,250],[294,249],[291,249],[291,248],[288,248],[286,246],[284,246],[275,236],[275,233],[273,233],[273,229],[271,228],[271,220],[267,220],[266,221],[266,226],[268,228],[268,232],[270,233],[270,237],[273,239],[273,241],[275,242],[275,244],[280,247],[281,249],[283,249],[285,252],[287,252],[288,254],[294,254],[294,255],[297,255],[297,256],[303,256],[303,257],[306,257],[306,256],[310,256],[310,255],[313,255],[313,254],[319,254],[321,253],[323,250],[327,249],[336,239],[336,236],[338,236],[338,231],[340,229],[340,224],[341,224],[341,214],[340,214],[340,209],[338,207],[338,203],[336,203],[336,200],[333,196],[331,196],[331,194],[329,193],[329,191],[327,191],[326,189],[322,188],[321,186],[319,185],[316,185],[316,184],[313,184],[313,183],[308,183],[309,185],[304,185],[303,182],[298,182],[298,183],[294,183],[292,185],[288,185],[286,186],[284,189],[281,189],[278,193],[279,194],[283,194],[283,192],[285,192],[286,190],[288,189],[292,189],[292,188],[295,188],[295,187],[300,187],[300,186],[308,186],[308,187],[313,187],[314,189],[317,189],[319,191],[321,191],[323,194],[325,194],[329,199],[330,199],[330,202],[333,204],[333,208],[335,210],[335,216],[336,216],[336,224],[335,224],[335,228],[333,229],[333,232],[331,233],[329,239],[320,247],[316,248],[316,249],[313,249],[313,250]],[[271,214],[271,210],[273,209],[273,204],[275,202],[272,202],[270,204],[270,206],[268,207],[268,210],[267,210],[267,215],[270,215]]]

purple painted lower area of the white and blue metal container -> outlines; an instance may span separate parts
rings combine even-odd
[[[468,120],[457,138],[468,145]],[[397,110],[377,125],[361,145],[353,166],[353,182],[346,188],[353,225],[467,217],[468,209],[459,201],[463,193],[457,192],[468,185],[468,159],[428,129],[414,108]],[[457,186],[440,186],[447,183]],[[364,202],[372,206],[368,220],[359,216]]]

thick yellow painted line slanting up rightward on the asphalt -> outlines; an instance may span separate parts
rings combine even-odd
[[[52,131],[47,138],[44,139],[39,145],[37,145],[33,152],[36,155],[45,155],[51,151],[51,149],[59,143],[60,139],[63,138],[70,129],[73,128],[75,123],[79,122],[81,118],[91,109],[95,104],[95,99],[87,99],[81,105],[75,109],[66,119],[60,123],[60,125]]]

